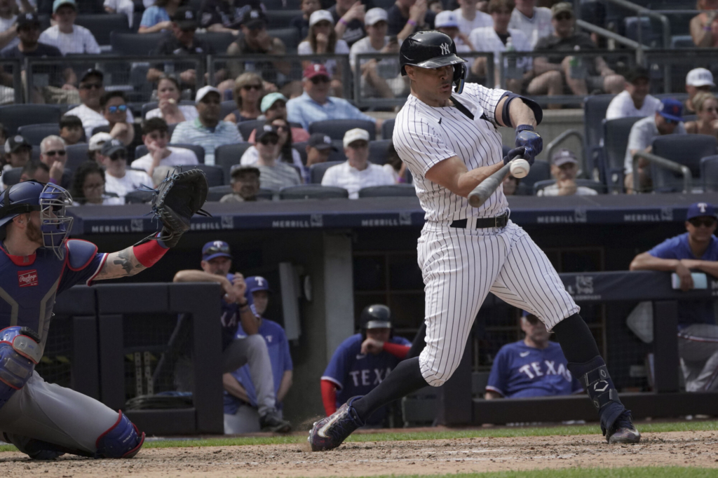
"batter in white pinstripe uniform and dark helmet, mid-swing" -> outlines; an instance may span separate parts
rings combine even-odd
[[[508,218],[501,188],[480,207],[467,196],[508,161],[529,164],[543,140],[534,130],[541,108],[508,91],[463,84],[466,60],[450,37],[416,32],[399,52],[411,95],[398,113],[393,144],[414,176],[426,212],[418,261],[426,293],[426,347],[400,362],[367,395],[348,400],[314,424],[314,451],[333,449],[376,408],[423,388],[442,385],[464,353],[474,319],[489,292],[536,315],[553,330],[572,375],[586,388],[609,443],[635,443],[640,434],[618,398],[579,307],[541,249]],[[452,91],[452,83],[456,89]],[[516,128],[516,148],[502,158],[497,126]]]

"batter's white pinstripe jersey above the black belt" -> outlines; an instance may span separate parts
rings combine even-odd
[[[414,176],[416,195],[427,221],[452,222],[467,217],[495,217],[508,209],[503,189],[498,188],[481,207],[471,207],[465,197],[455,195],[426,179],[435,164],[458,156],[469,171],[503,161],[501,134],[494,118],[496,105],[505,90],[465,85],[454,98],[474,115],[470,120],[454,106],[434,108],[409,95],[396,115],[392,136],[396,152]],[[485,119],[481,119],[481,117]]]

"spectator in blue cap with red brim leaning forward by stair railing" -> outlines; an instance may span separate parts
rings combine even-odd
[[[663,98],[655,114],[633,123],[628,136],[628,147],[626,148],[625,163],[623,165],[626,192],[629,194],[633,192],[633,155],[638,151],[650,153],[653,140],[658,136],[686,134],[682,114],[683,104],[679,100]],[[651,167],[645,159],[638,161],[638,174],[641,189],[650,189]]]

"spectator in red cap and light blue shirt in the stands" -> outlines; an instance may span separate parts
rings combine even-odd
[[[309,131],[309,124],[314,121],[360,119],[375,123],[376,130],[381,131],[381,119],[367,116],[347,100],[329,95],[331,80],[324,65],[309,65],[302,77],[304,93],[286,103],[289,122],[299,123]]]

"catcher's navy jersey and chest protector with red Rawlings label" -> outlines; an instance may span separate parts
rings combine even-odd
[[[97,276],[107,254],[85,240],[68,240],[65,258],[39,248],[32,256],[11,256],[0,248],[0,329],[29,327],[47,341],[55,296],[77,283],[88,285]]]

